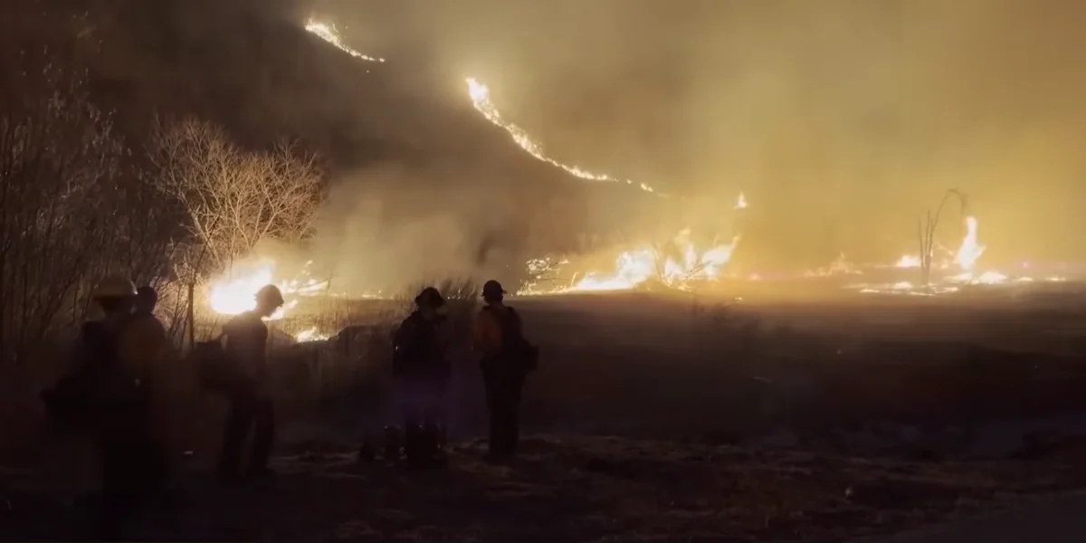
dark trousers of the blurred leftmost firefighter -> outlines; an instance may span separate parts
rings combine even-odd
[[[138,428],[111,429],[100,438],[99,462],[102,497],[98,535],[102,541],[118,541],[123,525],[165,487],[165,449]]]

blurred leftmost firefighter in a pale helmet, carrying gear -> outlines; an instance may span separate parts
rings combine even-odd
[[[132,320],[136,287],[124,277],[99,282],[91,298],[102,317],[83,325],[73,374],[42,393],[50,414],[89,430],[99,447],[99,533],[121,538],[123,523],[162,490],[166,453],[156,418],[155,356],[162,338]]]

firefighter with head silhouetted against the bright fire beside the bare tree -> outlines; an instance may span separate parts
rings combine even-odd
[[[264,319],[282,307],[282,292],[267,285],[256,292],[255,301],[252,311],[233,317],[223,327],[226,356],[238,370],[235,384],[225,391],[230,409],[218,463],[223,481],[272,475],[267,462],[275,441],[275,418],[266,390],[268,327]],[[253,444],[249,464],[242,469],[241,455],[250,429],[254,432]]]

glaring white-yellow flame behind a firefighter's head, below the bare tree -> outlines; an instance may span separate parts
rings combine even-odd
[[[270,258],[256,258],[251,262],[236,264],[224,277],[212,281],[209,288],[207,304],[219,315],[239,315],[256,307],[256,292],[266,285],[275,285],[282,292],[286,303],[270,317],[278,320],[298,305],[299,298],[314,295],[328,287],[328,281],[310,277],[305,263],[299,276],[275,281],[275,262]]]

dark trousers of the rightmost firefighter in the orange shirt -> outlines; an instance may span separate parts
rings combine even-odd
[[[520,441],[520,395],[525,372],[483,365],[482,377],[490,411],[490,454],[497,458],[516,456]]]

